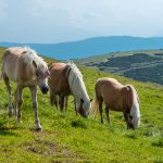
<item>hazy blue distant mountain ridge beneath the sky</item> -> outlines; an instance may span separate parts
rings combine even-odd
[[[1,47],[28,46],[46,57],[68,60],[110,52],[163,49],[163,37],[110,36],[61,43],[0,42]]]

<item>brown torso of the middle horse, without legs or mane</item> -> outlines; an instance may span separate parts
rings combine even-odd
[[[52,63],[49,68],[50,77],[48,79],[48,85],[50,89],[58,93],[61,91],[66,92],[68,90],[66,66],[65,63]]]

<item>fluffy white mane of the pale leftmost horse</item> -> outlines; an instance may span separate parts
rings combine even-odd
[[[22,59],[24,59],[24,61],[26,63],[32,63],[32,61],[36,61],[39,64],[46,65],[47,63],[43,61],[43,59],[41,57],[39,57],[35,50],[30,49],[29,47],[17,47],[20,50],[23,50],[22,52]]]

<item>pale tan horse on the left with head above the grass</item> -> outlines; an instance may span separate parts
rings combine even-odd
[[[37,85],[42,93],[47,93],[49,89],[47,63],[34,50],[21,47],[7,49],[2,58],[2,77],[9,93],[9,115],[14,113],[17,116],[17,122],[21,122],[22,93],[25,87],[29,87],[33,109],[35,111],[36,128],[41,129],[37,111]],[[14,109],[11,102],[10,80],[17,84]]]

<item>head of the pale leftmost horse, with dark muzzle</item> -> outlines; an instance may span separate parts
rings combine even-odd
[[[50,75],[46,62],[41,61],[40,63],[33,60],[33,65],[35,67],[35,74],[38,80],[38,86],[42,93],[47,93],[49,90],[48,77]]]

